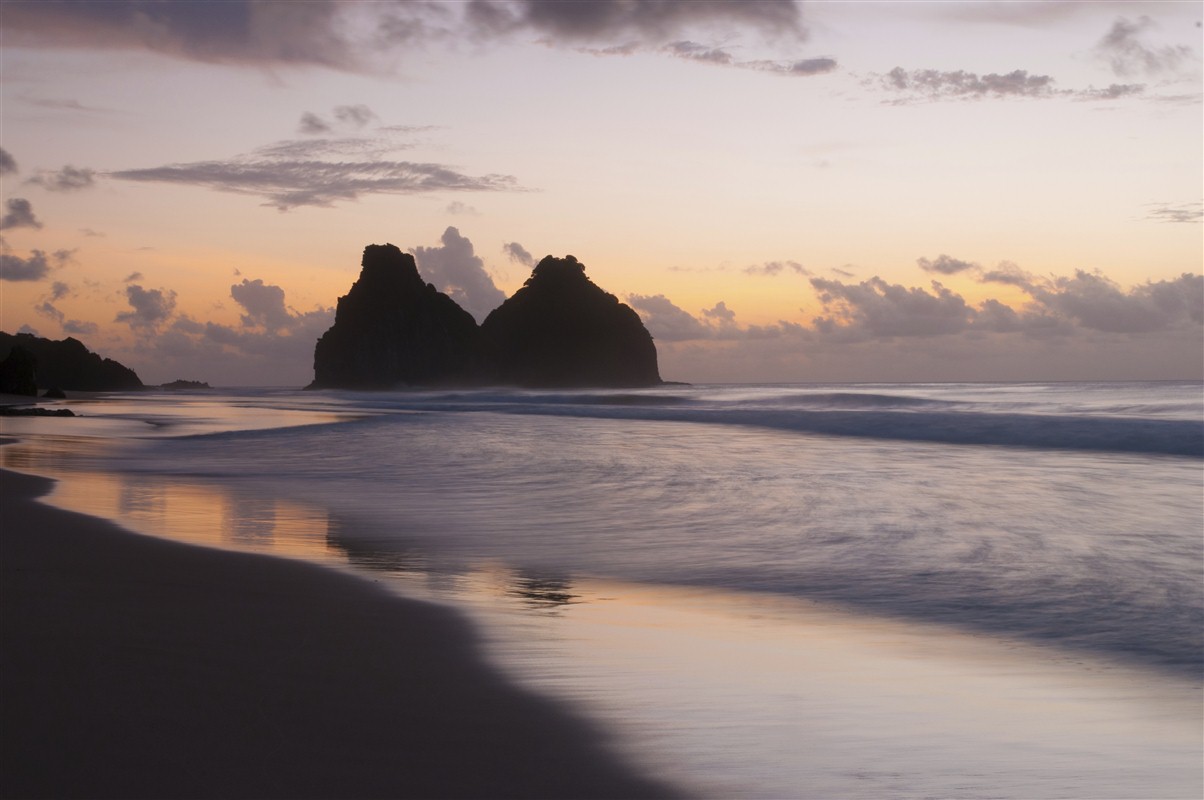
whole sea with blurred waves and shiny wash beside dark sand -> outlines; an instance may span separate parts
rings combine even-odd
[[[456,606],[696,794],[1204,795],[1199,383],[69,405],[53,502]]]

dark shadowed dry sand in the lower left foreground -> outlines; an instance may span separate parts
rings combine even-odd
[[[654,798],[454,612],[155,540],[0,471],[5,798]]]

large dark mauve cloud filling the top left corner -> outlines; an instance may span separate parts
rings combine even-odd
[[[343,13],[355,11],[354,4],[335,0],[10,0],[4,25],[6,43],[12,45],[143,49],[216,64],[358,69],[358,49],[343,33]]]

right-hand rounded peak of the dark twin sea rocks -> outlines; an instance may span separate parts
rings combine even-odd
[[[483,377],[524,387],[643,387],[661,382],[656,346],[630,306],[572,255],[544,258],[480,325]]]

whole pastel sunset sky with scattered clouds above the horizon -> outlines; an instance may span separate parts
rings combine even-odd
[[[666,380],[1204,378],[1192,2],[0,2],[0,329],[303,386],[370,243]]]

